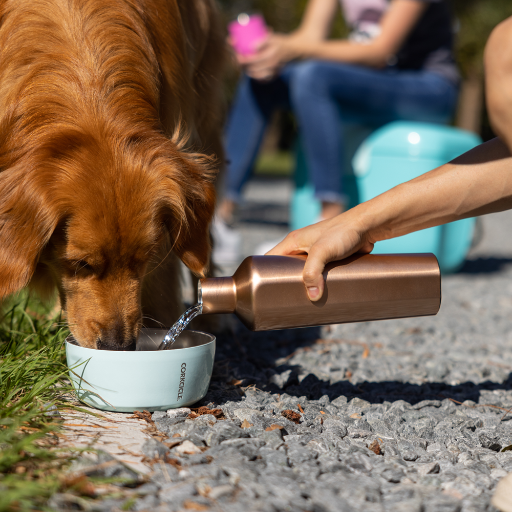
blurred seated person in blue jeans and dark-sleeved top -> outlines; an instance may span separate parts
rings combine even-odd
[[[452,22],[444,0],[341,0],[352,33],[327,39],[338,0],[310,0],[297,30],[270,33],[251,56],[226,130],[225,196],[229,223],[267,122],[291,109],[302,138],[321,218],[344,210],[342,122],[449,122],[457,101]],[[355,118],[355,119],[354,119]]]

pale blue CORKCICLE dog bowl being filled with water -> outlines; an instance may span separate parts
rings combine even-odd
[[[78,398],[104,411],[166,411],[203,398],[214,367],[215,336],[183,331],[172,349],[157,350],[167,329],[142,329],[137,351],[96,350],[66,340]]]

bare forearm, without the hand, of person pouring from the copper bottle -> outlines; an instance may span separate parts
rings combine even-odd
[[[500,139],[350,211],[370,243],[512,207],[512,157]]]

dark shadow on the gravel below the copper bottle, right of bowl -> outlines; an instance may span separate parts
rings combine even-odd
[[[242,326],[240,326],[242,327]],[[327,395],[330,400],[339,396],[354,397],[371,403],[405,400],[411,404],[422,400],[451,398],[457,402],[479,401],[483,390],[512,389],[512,373],[504,382],[462,382],[451,386],[444,382],[416,385],[409,382],[382,381],[352,384],[348,380],[334,383],[324,381],[310,373],[298,382],[300,368],[287,364],[287,359],[297,349],[313,347],[320,336],[319,328],[286,329],[282,331],[250,332],[245,328],[234,334],[217,337],[217,353],[210,388],[205,403],[238,401],[240,388],[254,386],[269,393],[288,393],[317,400]],[[318,353],[311,349],[311,357]]]

